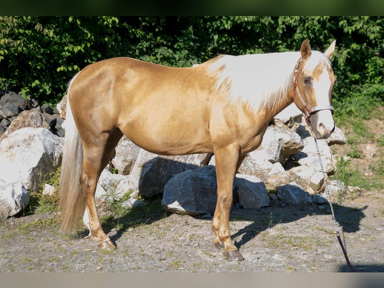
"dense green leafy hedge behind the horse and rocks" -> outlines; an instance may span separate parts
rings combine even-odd
[[[185,67],[217,54],[323,51],[336,39],[335,115],[384,100],[382,17],[0,17],[0,88],[57,103],[86,65],[116,56]]]

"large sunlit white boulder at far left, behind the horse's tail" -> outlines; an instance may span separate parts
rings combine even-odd
[[[40,190],[49,173],[60,166],[63,146],[63,139],[45,128],[22,128],[3,139],[0,181],[7,189],[0,189],[2,211],[10,210],[12,216],[28,204],[25,194]]]

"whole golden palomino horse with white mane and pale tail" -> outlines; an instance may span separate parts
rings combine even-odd
[[[124,134],[160,155],[215,154],[213,242],[228,259],[242,260],[229,230],[235,174],[259,147],[268,122],[293,101],[317,138],[332,133],[334,48],[335,41],[324,54],[312,51],[305,40],[300,52],[221,55],[189,68],[125,57],[85,67],[68,88],[62,231],[75,230],[86,208],[90,238],[102,249],[115,248],[101,227],[95,189]]]

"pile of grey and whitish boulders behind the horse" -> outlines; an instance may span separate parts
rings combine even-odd
[[[52,109],[13,92],[1,97],[0,216],[20,212],[29,193],[39,191],[46,176],[61,165],[63,118],[65,98]],[[247,156],[236,175],[236,207],[259,209],[277,198],[287,204],[326,201],[327,175],[321,172],[314,138],[304,123],[294,105],[275,117],[262,145]],[[336,128],[329,139],[317,141],[324,170],[331,174],[336,166],[329,145],[345,143],[346,138]],[[214,213],[216,189],[214,155],[158,156],[123,136],[101,174],[96,197],[116,199],[130,193],[126,206],[133,206],[142,204],[139,195],[160,194],[164,210],[198,215]]]

